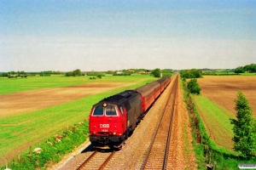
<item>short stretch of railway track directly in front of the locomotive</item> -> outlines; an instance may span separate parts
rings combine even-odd
[[[77,170],[82,169],[103,169],[108,161],[111,160],[115,151],[112,152],[98,152],[94,151],[84,162],[77,167]]]

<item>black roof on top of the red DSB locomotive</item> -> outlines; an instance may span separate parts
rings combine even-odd
[[[125,92],[121,92],[119,94],[115,94],[113,96],[109,96],[108,98],[102,99],[99,103],[112,103],[114,105],[121,105],[137,95],[139,94],[136,91],[126,90]]]

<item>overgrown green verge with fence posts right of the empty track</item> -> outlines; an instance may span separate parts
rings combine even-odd
[[[193,102],[192,94],[189,93],[186,81],[183,81],[183,91],[195,139],[193,144],[199,169],[206,169],[207,166],[214,169],[237,169],[240,163],[256,162],[255,156],[239,156],[230,150],[218,147],[207,133],[207,129]]]

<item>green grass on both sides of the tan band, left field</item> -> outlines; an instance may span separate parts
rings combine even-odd
[[[130,76],[130,77],[102,77],[102,79],[89,80],[89,77],[28,77],[27,79],[2,79],[0,80],[1,94],[9,94],[38,88],[55,88],[83,84],[87,82],[137,82],[124,88],[90,95],[82,99],[76,99],[62,105],[55,105],[39,111],[31,111],[6,116],[0,119],[0,157],[21,146],[46,139],[49,135],[60,132],[61,129],[71,126],[82,120],[88,120],[91,106],[109,95],[117,94],[125,89],[134,89],[148,82],[154,81],[154,77]],[[1,98],[1,95],[0,95]]]

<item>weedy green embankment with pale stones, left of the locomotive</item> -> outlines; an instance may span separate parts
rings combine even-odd
[[[55,134],[38,145],[38,150],[31,148],[28,153],[18,156],[9,162],[10,169],[46,169],[51,164],[61,161],[61,158],[75,149],[88,138],[88,121],[73,125],[63,133]],[[1,167],[1,170],[5,167]]]

